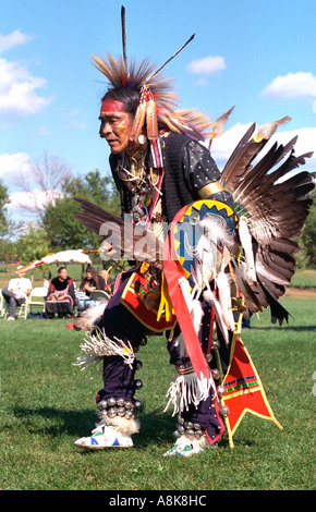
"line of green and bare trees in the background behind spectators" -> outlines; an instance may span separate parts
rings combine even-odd
[[[31,183],[36,185],[35,188]],[[76,220],[81,208],[73,197],[89,200],[120,216],[120,198],[112,176],[101,175],[98,169],[75,176],[65,162],[48,153],[40,161],[33,162],[27,176],[20,176],[17,184],[28,198],[27,205],[22,204],[21,207],[35,214],[35,221],[14,222],[9,217],[9,190],[0,181],[2,263],[20,260],[27,264],[58,251],[98,248],[101,239]],[[303,233],[297,239],[301,252],[296,259],[299,268],[316,269],[316,191],[311,197],[314,200]]]

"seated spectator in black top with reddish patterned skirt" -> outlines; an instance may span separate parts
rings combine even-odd
[[[68,276],[66,268],[60,267],[58,277],[50,282],[45,301],[47,318],[53,318],[54,314],[58,314],[59,318],[73,317],[74,303],[74,281]]]

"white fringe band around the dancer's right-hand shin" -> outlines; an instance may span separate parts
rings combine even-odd
[[[200,375],[200,380],[197,379],[193,369],[190,374],[178,374],[165,397],[166,399],[169,397],[169,400],[163,412],[168,410],[170,403],[173,405],[172,416],[184,410],[187,411],[191,404],[197,406],[199,402],[208,398],[211,387],[215,389],[210,371],[208,378]]]

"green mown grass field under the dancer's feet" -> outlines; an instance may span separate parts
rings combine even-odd
[[[163,413],[174,369],[165,337],[137,356],[144,409],[134,449],[80,451],[74,440],[97,420],[101,375],[81,371],[81,332],[68,320],[0,320],[0,489],[10,490],[308,490],[315,488],[315,301],[282,301],[295,320],[272,326],[269,313],[243,331],[281,431],[247,414],[218,449],[191,458],[163,458],[177,418]]]

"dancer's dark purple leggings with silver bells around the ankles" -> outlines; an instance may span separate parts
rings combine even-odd
[[[104,318],[102,327],[108,338],[111,340],[122,340],[124,343],[132,344],[137,352],[141,344],[146,343],[146,337],[149,332],[121,303],[121,294],[124,290],[129,276],[122,280],[119,290],[109,301]],[[211,309],[204,304],[204,318],[200,329],[200,343],[206,353],[206,346],[209,344],[209,322]],[[167,349],[170,354],[170,363],[177,368],[187,366],[190,359],[180,354],[180,344],[178,343],[180,331],[175,329],[173,339],[168,341]],[[208,354],[210,368],[216,367],[215,357]],[[107,356],[104,358],[104,388],[96,395],[97,404],[111,415],[130,415],[134,409],[139,406],[139,401],[134,399],[135,391],[143,383],[141,379],[135,378],[135,373],[141,362],[135,358],[133,365],[127,365],[120,356]],[[203,431],[207,435],[209,442],[215,442],[221,437],[223,423],[219,415],[215,401],[215,389],[210,388],[206,400],[198,403],[197,406],[191,404],[178,417],[177,425],[179,435],[196,431]]]

